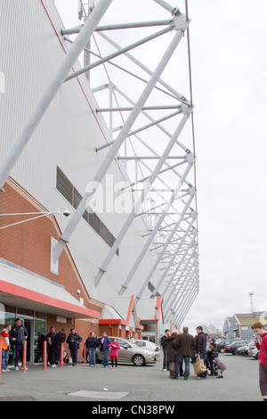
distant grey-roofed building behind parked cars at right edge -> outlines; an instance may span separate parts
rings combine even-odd
[[[231,325],[226,332],[226,328],[230,322],[230,318]],[[223,326],[223,334],[227,338],[237,338],[244,340],[252,339],[255,333],[251,329],[251,326],[256,322],[261,322],[264,325],[264,328],[267,330],[267,316],[264,311],[234,314],[232,317],[227,317],[225,319]]]

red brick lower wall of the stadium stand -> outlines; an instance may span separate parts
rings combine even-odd
[[[1,193],[0,213],[25,213],[25,212],[44,212],[41,207],[30,195],[28,195],[19,185],[12,180],[4,185],[4,193]],[[53,209],[49,209],[53,210]],[[9,216],[0,217],[0,226],[7,226],[26,218],[36,217],[29,216]],[[61,231],[53,216],[45,216],[44,218],[31,220],[18,226],[9,226],[0,230],[0,258],[9,260],[10,262],[42,275],[47,279],[60,283],[67,292],[75,298],[83,298],[86,308],[91,308],[101,312],[101,303],[90,300],[85,290],[85,285],[78,275],[77,267],[68,249],[61,253],[59,263],[59,275],[51,272],[51,237],[58,240]],[[22,285],[23,286],[23,285]],[[80,294],[77,294],[77,289]],[[91,331],[97,335],[101,335],[99,331],[98,321],[94,319],[73,320],[67,319],[67,324],[58,323],[56,316],[47,315],[47,331],[50,326],[54,326],[56,332],[63,327],[68,336],[69,329],[75,325],[77,333],[83,337],[83,342],[87,339]],[[83,345],[79,349],[78,357],[82,357]],[[68,345],[65,343],[65,349]],[[68,349],[69,350],[69,349]],[[67,350],[67,351],[68,351]]]

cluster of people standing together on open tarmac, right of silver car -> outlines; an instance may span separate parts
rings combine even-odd
[[[170,333],[166,329],[161,338],[163,348],[163,370],[169,371],[171,379],[178,380],[182,376],[183,380],[188,380],[190,376],[190,363],[194,364],[197,358],[203,359],[203,371],[196,375],[197,380],[205,380],[207,370],[209,375],[216,375],[223,378],[223,372],[227,369],[218,357],[218,350],[214,340],[208,341],[203,327],[196,328],[196,336],[189,333],[188,327],[183,327],[182,333]]]

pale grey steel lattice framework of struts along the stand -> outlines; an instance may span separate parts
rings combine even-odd
[[[95,111],[106,119],[110,133],[109,142],[95,151],[103,157],[92,182],[101,183],[111,162],[117,159],[119,164],[125,165],[129,175],[125,188],[137,197],[99,267],[95,287],[104,280],[134,218],[146,217],[150,231],[143,235],[143,247],[129,274],[123,278],[119,294],[123,295],[134,281],[145,254],[154,252],[155,262],[136,292],[136,303],[153,283],[151,298],[161,295],[165,319],[179,326],[198,294],[199,284],[190,18],[187,1],[183,4],[185,12],[164,0],[142,0],[144,3],[157,15],[162,12],[164,19],[122,22],[118,16],[118,23],[109,24],[106,20],[109,21],[112,0],[89,4],[80,1],[81,25],[62,29],[65,39],[72,43],[69,53],[4,159],[0,167],[0,187],[3,189],[12,167],[61,85],[85,73],[99,103]],[[129,2],[125,0],[124,4],[125,16],[128,16]],[[139,15],[142,15],[142,6]],[[179,48],[181,55],[177,55]],[[84,67],[74,72],[72,66],[81,53],[84,53]],[[177,92],[176,84],[184,86],[189,99]],[[54,261],[71,240],[92,196],[93,190],[85,193],[54,249]],[[155,283],[153,275],[158,269],[161,274]]]

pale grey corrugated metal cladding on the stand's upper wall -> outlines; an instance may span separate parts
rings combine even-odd
[[[62,22],[52,0],[0,0],[0,71],[5,76],[5,91],[0,94],[1,160],[71,48],[61,37],[61,29]],[[74,70],[79,68],[77,62]],[[64,83],[12,170],[15,181],[48,210],[67,206],[73,214],[77,200],[85,193],[86,185],[108,152],[95,152],[95,147],[110,140],[108,127],[101,115],[94,114],[95,108],[96,102],[85,75]],[[74,207],[56,189],[57,167],[75,188]],[[119,166],[115,160],[108,175],[112,176],[114,185],[127,179],[124,166]],[[103,229],[104,240],[95,232],[101,228],[97,217],[89,218],[89,223],[88,219],[81,219],[69,249],[89,294],[113,305],[129,268],[142,249],[142,235],[148,233],[149,227],[144,218],[134,219],[120,245],[119,256],[112,260],[105,280],[95,289],[94,277],[109,252],[110,239],[112,244],[127,214],[113,212],[98,216],[109,230]],[[63,231],[68,218],[57,217],[57,220]],[[140,290],[153,256],[147,252],[128,295]],[[158,270],[155,283],[159,274]]]

